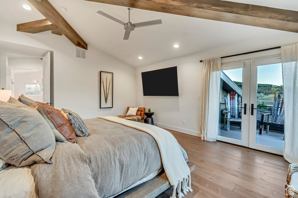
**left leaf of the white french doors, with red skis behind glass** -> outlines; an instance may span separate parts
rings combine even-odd
[[[243,73],[249,69],[249,61],[222,65],[221,69],[218,140],[247,146],[248,122],[242,104],[247,104],[249,83]]]

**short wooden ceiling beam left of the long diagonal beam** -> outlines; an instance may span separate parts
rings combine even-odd
[[[28,23],[21,23],[17,25],[17,31],[27,32],[31,34],[49,31],[53,29],[56,29],[56,26],[54,26],[47,19],[41,19],[41,20],[31,21]]]

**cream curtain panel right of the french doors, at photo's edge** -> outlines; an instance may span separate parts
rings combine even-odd
[[[284,158],[298,163],[298,43],[281,47],[285,112]]]

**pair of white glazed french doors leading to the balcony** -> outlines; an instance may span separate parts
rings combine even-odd
[[[218,140],[283,155],[281,58],[268,53],[222,60]]]

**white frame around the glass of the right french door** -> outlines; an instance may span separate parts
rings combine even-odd
[[[257,110],[252,109],[251,105],[254,104],[254,107],[257,107],[257,67],[270,64],[281,63],[281,55],[273,55],[262,58],[253,58],[251,59],[251,70],[250,70],[250,105],[249,105],[249,148],[257,149],[260,151],[266,151],[269,153],[276,153],[278,155],[283,155],[283,149],[274,148],[271,146],[260,145],[256,143],[256,128],[257,128]],[[254,111],[254,115],[251,115]]]

